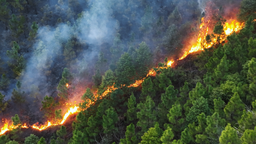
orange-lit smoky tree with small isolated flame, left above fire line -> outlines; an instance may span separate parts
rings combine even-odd
[[[58,87],[57,87],[58,91],[60,92],[58,93],[58,96],[60,96],[65,100],[68,99],[68,89],[71,89],[70,85],[72,80],[73,80],[73,74],[70,73],[70,71],[67,68],[64,68],[62,72],[62,79],[60,80],[60,83],[58,84]],[[69,86],[67,86],[67,84]]]

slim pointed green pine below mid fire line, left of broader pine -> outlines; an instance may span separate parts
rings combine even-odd
[[[128,109],[127,112],[124,114],[124,116],[127,117],[127,123],[131,122],[132,120],[137,118],[136,113],[136,98],[132,92],[130,98],[128,99]]]

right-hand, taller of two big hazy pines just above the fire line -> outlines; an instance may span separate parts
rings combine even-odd
[[[145,42],[141,42],[138,49],[132,53],[132,58],[135,61],[136,79],[143,79],[147,76],[153,62],[151,57],[149,46]]]

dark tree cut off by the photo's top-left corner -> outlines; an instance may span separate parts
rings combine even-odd
[[[7,8],[9,3],[6,3],[6,0],[0,0],[0,20],[5,23],[5,28],[7,30],[7,22],[10,18],[9,12],[10,9]]]

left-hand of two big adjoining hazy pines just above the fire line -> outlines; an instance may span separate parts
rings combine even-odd
[[[132,64],[131,56],[128,53],[122,54],[121,58],[117,62],[117,68],[115,70],[117,81],[121,85],[130,85],[135,77],[135,69]]]

